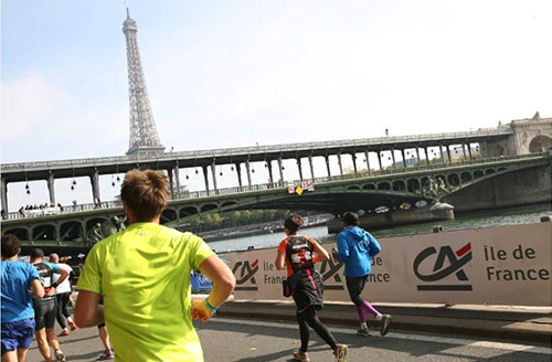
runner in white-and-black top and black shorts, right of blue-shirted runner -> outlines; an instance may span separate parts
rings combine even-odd
[[[57,315],[55,302],[55,288],[65,280],[70,273],[57,264],[44,262],[44,251],[34,248],[31,251],[31,264],[39,272],[40,280],[44,287],[43,298],[33,299],[34,319],[36,322],[35,338],[39,350],[46,362],[52,361],[50,345],[54,349],[55,360],[65,362],[65,354],[60,350],[60,342],[54,333],[55,317]],[[60,278],[52,283],[52,275],[60,274]]]

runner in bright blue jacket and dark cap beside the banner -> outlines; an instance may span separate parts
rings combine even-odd
[[[385,336],[389,332],[391,316],[380,313],[370,302],[362,299],[372,257],[380,254],[381,246],[369,232],[358,226],[359,216],[355,213],[346,212],[341,221],[343,230],[338,234],[338,249],[332,254],[339,262],[344,263],[347,289],[359,313],[360,329],[357,332],[360,336],[370,336],[365,316],[368,311],[381,321],[381,336]]]

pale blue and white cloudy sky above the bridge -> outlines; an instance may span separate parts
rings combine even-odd
[[[1,161],[124,155],[125,1],[1,6]],[[130,14],[174,150],[552,116],[548,0],[134,0]]]

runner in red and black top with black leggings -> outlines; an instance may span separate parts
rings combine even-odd
[[[328,260],[329,254],[320,244],[308,237],[298,235],[302,219],[298,214],[290,214],[284,222],[287,235],[278,246],[275,266],[277,269],[287,267],[287,279],[293,290],[297,306],[297,322],[301,339],[301,347],[294,352],[294,360],[308,362],[307,354],[310,331],[317,334],[331,348],[337,361],[347,361],[347,344],[339,344],[328,328],[318,319],[317,310],[323,307],[323,280],[315,268],[315,262]]]

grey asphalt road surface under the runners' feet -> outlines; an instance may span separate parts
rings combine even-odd
[[[205,362],[291,361],[298,348],[299,331],[295,323],[214,318],[195,323],[202,341]],[[443,334],[393,331],[380,337],[358,337],[354,330],[330,327],[340,343],[349,344],[348,361],[424,361],[424,362],[550,362],[551,345],[501,342],[479,338],[453,338]],[[77,329],[60,338],[67,361],[94,361],[103,351],[95,328]],[[309,356],[312,362],[335,361],[330,349],[311,332]],[[29,362],[43,361],[34,341]],[[130,361],[135,362],[135,361]]]

